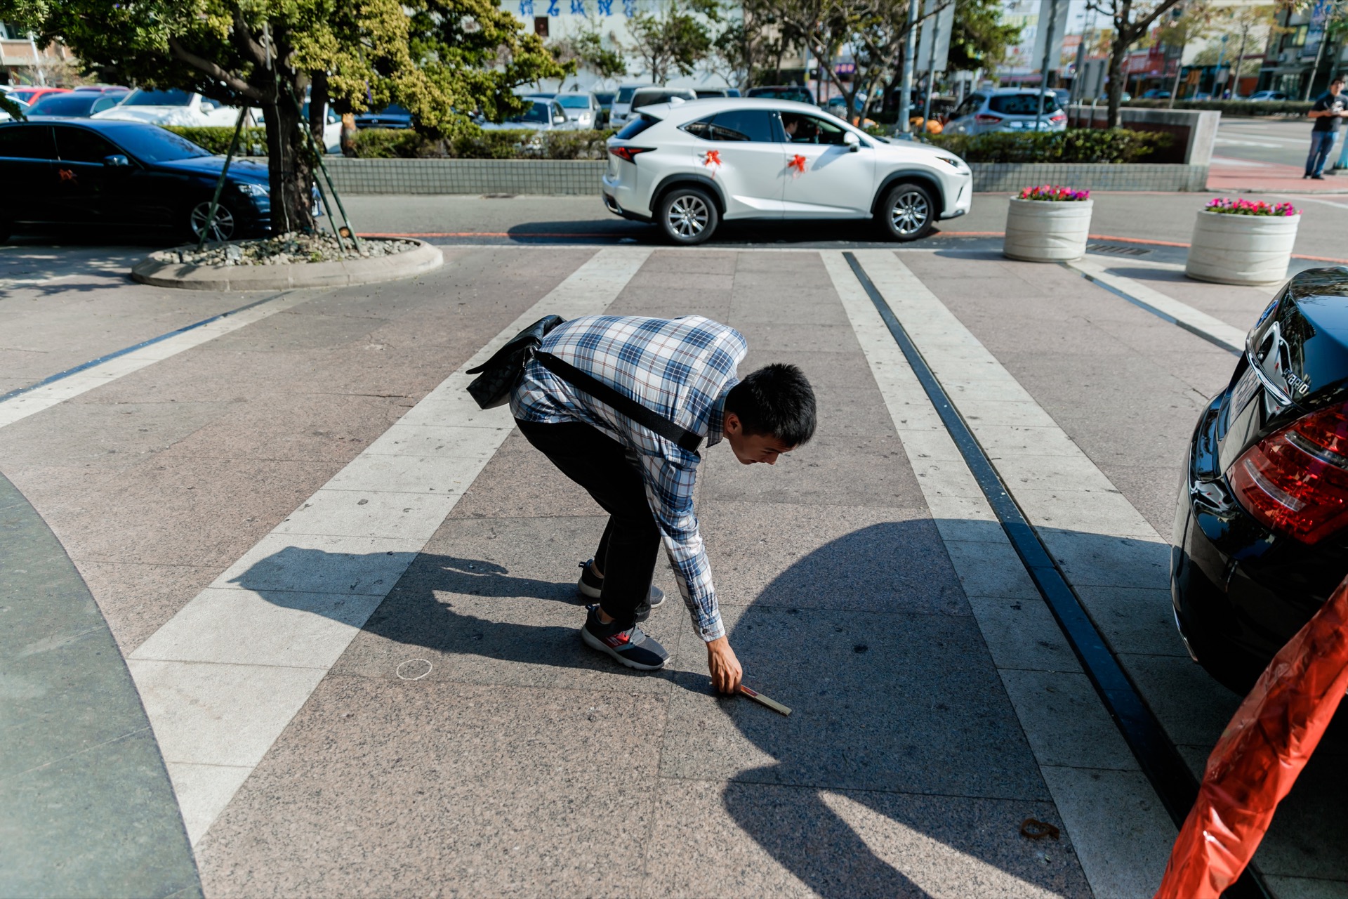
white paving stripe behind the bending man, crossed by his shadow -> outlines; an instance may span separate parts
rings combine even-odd
[[[604,311],[651,249],[600,249],[226,569],[127,664],[198,842],[514,427],[464,369]]]

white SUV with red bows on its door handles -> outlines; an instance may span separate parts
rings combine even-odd
[[[917,240],[969,212],[952,152],[872,137],[818,106],[731,97],[643,106],[608,139],[604,205],[700,244],[721,220],[875,218]]]

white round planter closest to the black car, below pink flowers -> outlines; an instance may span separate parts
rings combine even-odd
[[[1301,216],[1200,212],[1184,274],[1219,284],[1271,284],[1287,278]]]

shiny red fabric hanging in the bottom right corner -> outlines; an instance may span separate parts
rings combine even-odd
[[[1282,647],[1208,756],[1157,899],[1217,899],[1250,864],[1348,689],[1348,578]]]

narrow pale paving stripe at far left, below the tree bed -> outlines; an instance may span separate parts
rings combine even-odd
[[[57,372],[44,377],[36,384],[19,387],[8,394],[0,395],[0,427],[13,425],[30,415],[51,408],[73,396],[78,396],[96,387],[111,384],[123,375],[140,371],[158,361],[177,356],[178,353],[200,346],[221,334],[239,330],[247,325],[294,309],[313,298],[311,292],[284,291],[264,297],[259,301],[232,309],[210,318],[202,318],[185,328],[159,334],[150,340],[140,341],[133,346],[119,349],[115,353],[100,356],[63,372]]]

